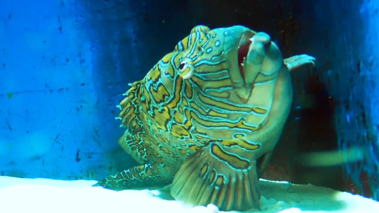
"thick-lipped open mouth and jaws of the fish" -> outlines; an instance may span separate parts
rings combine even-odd
[[[268,34],[243,26],[231,28],[234,29],[225,33],[224,55],[233,88],[242,100],[247,101],[255,81],[277,77],[283,57]]]

